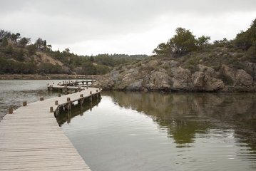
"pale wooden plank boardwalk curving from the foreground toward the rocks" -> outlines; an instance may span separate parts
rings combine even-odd
[[[0,122],[0,170],[90,170],[50,111],[52,107],[58,115],[61,106],[100,94],[98,88],[88,88],[29,103],[5,115]]]

